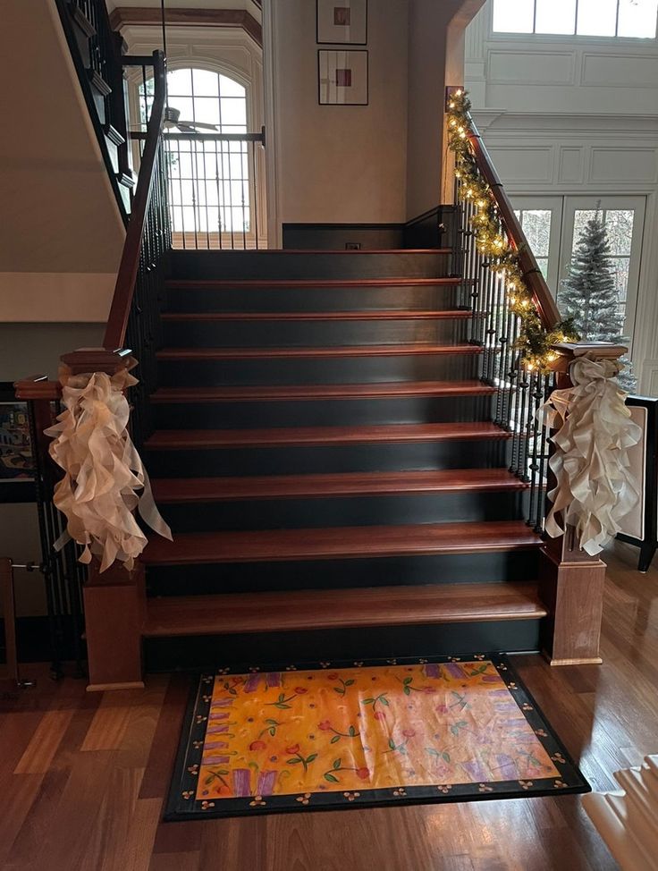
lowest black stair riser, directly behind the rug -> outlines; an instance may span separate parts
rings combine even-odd
[[[145,638],[148,672],[209,668],[238,664],[390,659],[403,656],[482,654],[505,650],[536,651],[540,620],[447,623],[436,626],[385,626],[257,635]]]

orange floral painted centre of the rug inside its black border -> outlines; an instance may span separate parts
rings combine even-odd
[[[181,789],[193,783],[198,803],[244,798],[250,808],[283,795],[306,807],[322,791],[564,789],[546,731],[527,723],[489,660],[330,665],[217,675],[195,712],[186,767],[197,768]]]

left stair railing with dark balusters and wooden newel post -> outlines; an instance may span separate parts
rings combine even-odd
[[[158,294],[163,286],[171,249],[167,203],[165,146],[165,56],[124,56],[126,66],[153,67],[155,91],[147,138],[139,167],[137,190],[112,300],[103,348],[64,354],[61,362],[70,375],[105,372],[114,376],[137,359],[138,385],[130,388],[131,435],[141,446],[148,434],[145,395],[155,388],[156,350],[160,342]],[[97,688],[139,686],[139,608],[143,572],[130,575],[112,566],[102,575],[92,562],[89,571],[78,562],[80,547],[69,540],[62,545],[66,520],[53,503],[61,470],[49,456],[50,439],[44,430],[60,412],[62,386],[46,376],[33,376],[16,384],[16,396],[28,405],[35,488],[42,549],[42,571],[53,648],[53,672],[61,673],[63,651],[73,649],[79,665],[84,659],[81,639],[88,641],[89,676]],[[114,591],[114,596],[111,595]],[[84,605],[84,607],[83,607]],[[82,613],[84,610],[84,620]],[[83,628],[84,627],[84,628]],[[104,634],[105,633],[105,634]],[[126,662],[130,665],[126,666]],[[126,673],[129,680],[126,680]]]

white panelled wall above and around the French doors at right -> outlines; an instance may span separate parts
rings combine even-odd
[[[626,329],[638,390],[658,395],[658,41],[493,33],[489,0],[468,26],[465,71],[515,207],[553,203],[553,290],[578,202],[636,209]]]

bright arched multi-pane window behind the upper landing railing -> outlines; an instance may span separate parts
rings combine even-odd
[[[224,73],[187,67],[167,73],[167,99],[180,113],[179,128],[166,131],[174,247],[252,247],[256,146],[218,138],[248,132],[247,89]],[[139,85],[142,130],[152,102],[150,79]]]

